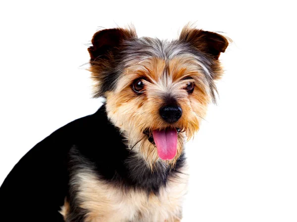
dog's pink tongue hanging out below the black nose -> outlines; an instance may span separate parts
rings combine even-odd
[[[176,129],[153,130],[152,136],[157,146],[159,157],[162,160],[172,160],[176,155],[177,148]]]

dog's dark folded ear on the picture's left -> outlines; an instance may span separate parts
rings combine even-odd
[[[133,29],[104,29],[94,34],[92,45],[88,51],[91,61],[97,58],[109,58],[115,50],[121,48],[121,44],[125,40],[137,38],[136,32]]]

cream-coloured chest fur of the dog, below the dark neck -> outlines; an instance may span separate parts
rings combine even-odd
[[[187,174],[168,178],[157,195],[137,189],[120,189],[99,180],[94,174],[80,172],[77,198],[88,213],[85,222],[176,222],[181,219]]]

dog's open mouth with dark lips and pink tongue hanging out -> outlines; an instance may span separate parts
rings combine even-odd
[[[181,130],[178,127],[143,131],[148,141],[157,148],[158,156],[162,160],[172,160],[177,155],[178,134],[180,132]]]

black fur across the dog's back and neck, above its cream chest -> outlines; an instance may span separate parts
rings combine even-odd
[[[82,221],[86,212],[75,207],[75,187],[69,179],[75,169],[92,169],[100,179],[119,188],[158,193],[183,166],[184,156],[172,170],[157,164],[151,172],[143,160],[126,148],[123,137],[109,122],[105,107],[53,132],[32,148],[11,170],[0,187],[0,221],[60,221],[64,198],[71,219]],[[137,167],[135,167],[137,166]]]

